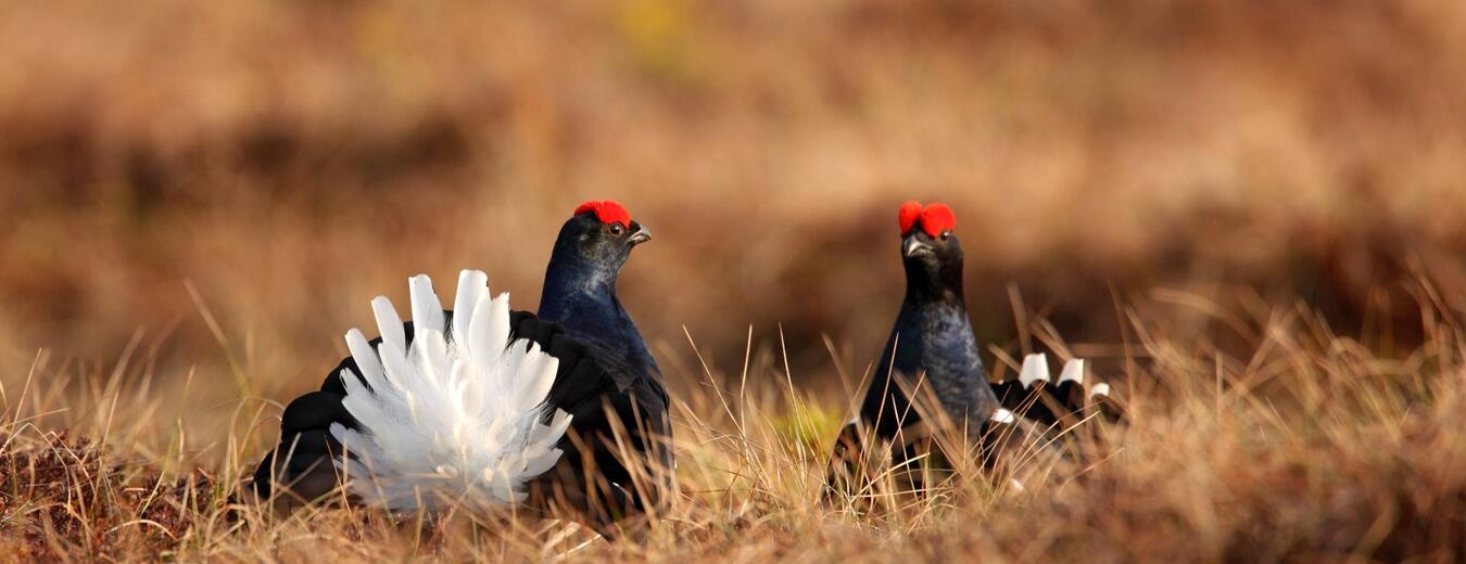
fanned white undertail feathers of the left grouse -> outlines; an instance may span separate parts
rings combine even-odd
[[[560,460],[556,444],[570,416],[545,422],[545,397],[559,360],[528,340],[509,340],[509,294],[490,299],[479,271],[459,275],[453,324],[432,281],[416,275],[413,340],[386,297],[372,300],[381,344],[358,330],[346,346],[365,379],[342,371],[346,410],[361,429],[331,425],[346,447],[336,460],[350,494],[393,511],[452,502],[506,505],[525,498],[525,482]]]

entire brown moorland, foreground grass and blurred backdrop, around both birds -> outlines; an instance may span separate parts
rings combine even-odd
[[[1029,4],[0,0],[0,558],[1466,558],[1466,4]],[[372,296],[532,306],[592,198],[655,233],[649,533],[230,519]],[[913,198],[997,375],[1130,403],[1080,470],[818,502]]]

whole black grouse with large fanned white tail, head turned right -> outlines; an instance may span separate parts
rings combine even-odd
[[[472,271],[454,311],[440,308],[427,277],[413,278],[410,322],[378,297],[383,337],[349,333],[352,356],[286,407],[255,492],[292,505],[327,497],[345,475],[349,498],[391,510],[457,495],[567,511],[598,529],[658,504],[673,488],[668,398],[616,294],[647,240],[617,202],[578,207],[556,240],[539,315],[490,299]]]

